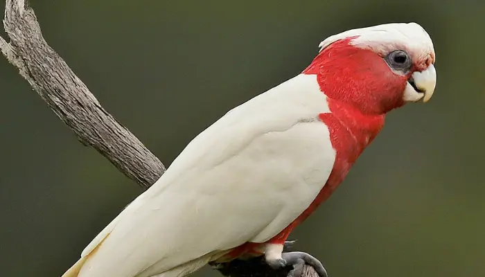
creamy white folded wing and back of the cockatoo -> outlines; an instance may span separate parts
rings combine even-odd
[[[330,175],[335,151],[318,120],[326,112],[315,75],[298,75],[232,109],[86,247],[78,276],[152,276],[269,240]]]

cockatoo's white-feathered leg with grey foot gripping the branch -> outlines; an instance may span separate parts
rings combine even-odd
[[[305,252],[285,252],[283,253],[283,246],[291,247],[294,242],[285,242],[285,244],[266,244],[265,245],[265,260],[270,267],[274,269],[281,269],[286,266],[292,266],[288,276],[301,277],[303,274],[303,266],[310,265],[317,271],[320,277],[328,277],[326,269],[321,262]]]

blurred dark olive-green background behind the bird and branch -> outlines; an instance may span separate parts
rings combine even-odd
[[[436,50],[433,99],[392,112],[290,238],[332,277],[485,276],[484,1],[30,3],[47,42],[166,166],[226,111],[302,71],[327,36],[418,22]],[[142,190],[0,60],[1,276],[60,276]]]

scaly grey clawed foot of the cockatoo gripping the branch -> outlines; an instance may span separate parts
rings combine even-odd
[[[285,260],[286,265],[292,265],[293,269],[288,276],[301,277],[303,274],[303,265],[310,265],[317,271],[319,277],[328,277],[327,271],[324,265],[317,258],[311,256],[305,252],[285,252],[281,254],[281,258]]]

